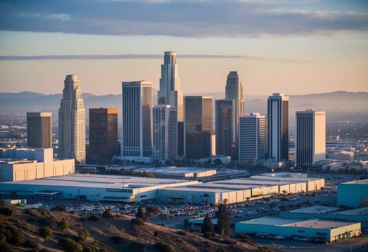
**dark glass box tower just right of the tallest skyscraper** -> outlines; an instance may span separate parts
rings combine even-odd
[[[184,97],[185,158],[207,158],[211,155],[212,97]]]

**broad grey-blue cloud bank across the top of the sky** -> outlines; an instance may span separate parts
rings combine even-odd
[[[335,35],[368,30],[367,13],[309,11],[307,7],[305,1],[3,0],[0,30],[178,37]]]

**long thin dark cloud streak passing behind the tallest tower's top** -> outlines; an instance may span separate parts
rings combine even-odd
[[[284,62],[318,62],[315,60],[293,60],[255,57],[248,55],[183,54],[178,58],[229,58]],[[40,55],[40,56],[0,56],[0,60],[113,60],[113,59],[161,59],[161,54],[95,54],[95,55]]]

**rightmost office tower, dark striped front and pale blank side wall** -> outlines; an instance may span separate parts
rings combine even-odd
[[[326,112],[296,112],[295,163],[315,165],[326,159]]]

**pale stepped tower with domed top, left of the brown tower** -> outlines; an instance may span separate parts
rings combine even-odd
[[[85,163],[84,113],[82,91],[79,89],[77,75],[67,75],[59,108],[58,158],[74,158],[77,164]]]

